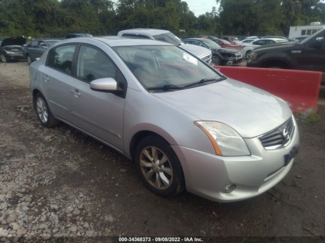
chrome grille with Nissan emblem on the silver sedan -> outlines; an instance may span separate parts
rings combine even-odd
[[[293,117],[290,117],[278,128],[258,137],[265,149],[277,149],[286,146],[293,137],[295,124]]]

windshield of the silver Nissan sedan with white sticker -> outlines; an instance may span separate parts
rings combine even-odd
[[[175,46],[115,47],[114,51],[147,90],[195,87],[202,80],[221,76],[200,59]],[[198,84],[198,85],[203,85]]]

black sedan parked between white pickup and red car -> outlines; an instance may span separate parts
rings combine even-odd
[[[211,39],[205,38],[188,38],[184,39],[185,43],[205,47],[212,51],[212,64],[217,66],[236,65],[243,60],[243,55],[237,49],[222,48]]]

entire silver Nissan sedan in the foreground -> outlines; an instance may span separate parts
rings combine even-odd
[[[168,43],[67,39],[30,65],[29,78],[43,126],[63,121],[133,159],[159,195],[250,198],[276,185],[298,152],[283,100]]]

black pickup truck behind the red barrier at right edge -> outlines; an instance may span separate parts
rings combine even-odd
[[[321,71],[325,73],[325,28],[298,43],[257,47],[252,51],[251,58],[246,66]]]

